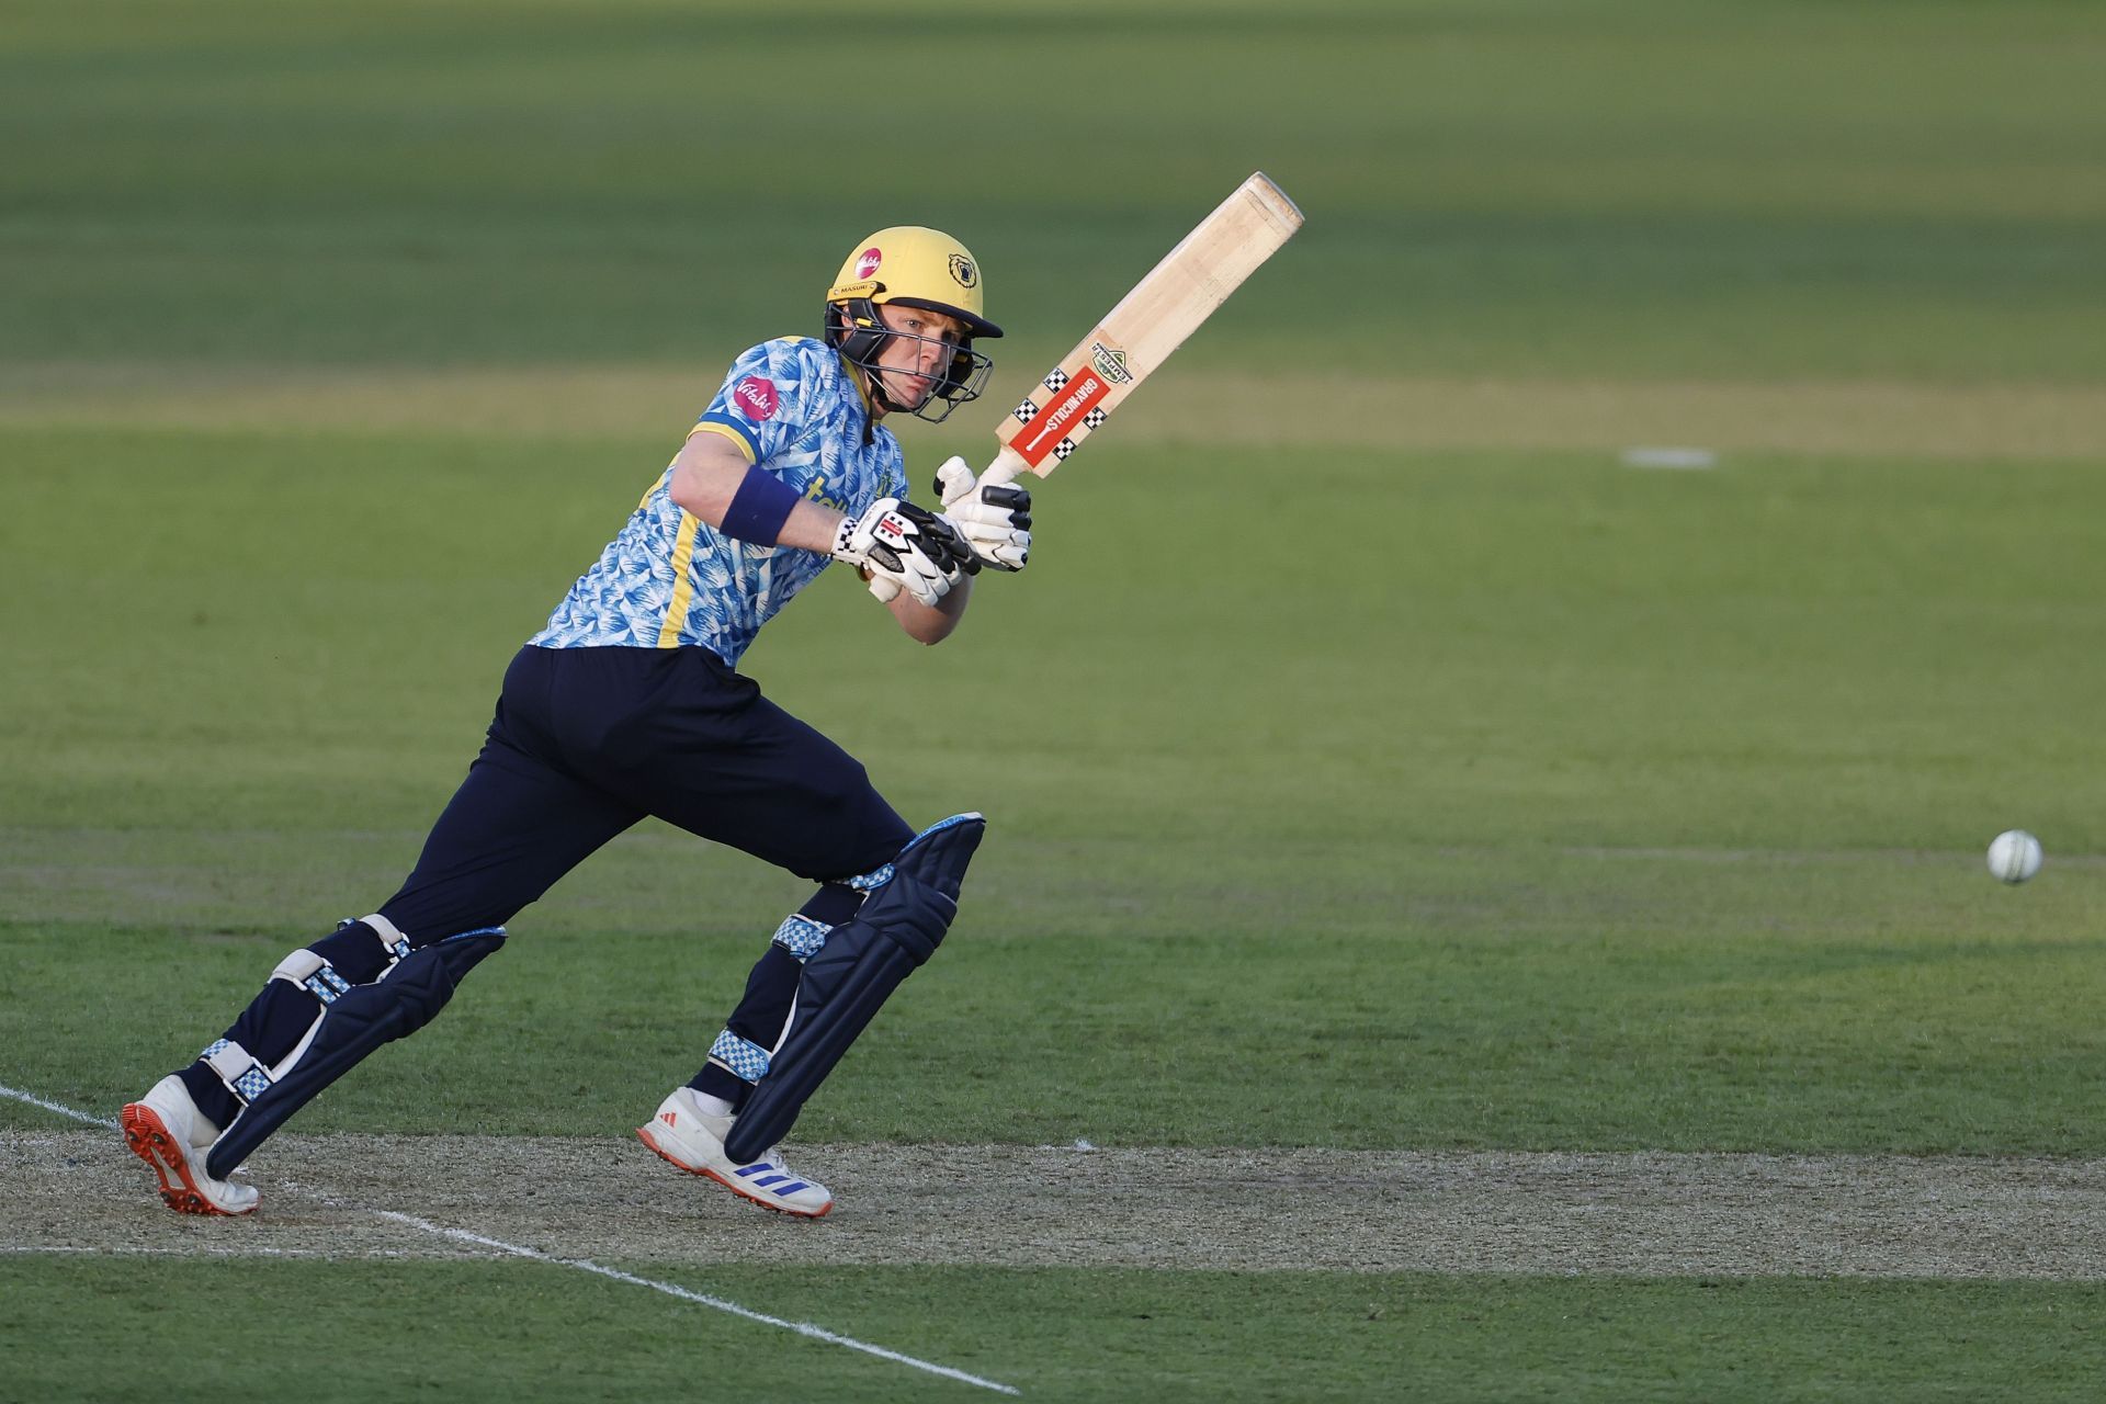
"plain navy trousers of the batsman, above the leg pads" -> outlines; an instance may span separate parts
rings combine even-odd
[[[411,945],[503,926],[653,815],[813,882],[893,861],[914,829],[863,766],[708,648],[537,648],[381,905]]]

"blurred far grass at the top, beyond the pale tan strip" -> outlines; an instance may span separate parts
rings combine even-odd
[[[2085,4],[13,0],[4,44],[15,415],[65,364],[699,373],[908,219],[1036,362],[1251,168],[1310,225],[1177,373],[1342,383],[1253,415],[1316,442],[1400,379],[2102,370]]]

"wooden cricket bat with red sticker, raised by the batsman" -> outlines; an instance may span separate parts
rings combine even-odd
[[[979,482],[1051,476],[1299,227],[1266,173],[1238,185],[1002,419]]]

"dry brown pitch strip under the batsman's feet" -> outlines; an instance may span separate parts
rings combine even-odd
[[[114,1130],[6,1130],[0,1160],[8,1252],[2106,1278],[2095,1160],[813,1145],[817,1223],[613,1139],[289,1135],[240,1221],[166,1212]]]

